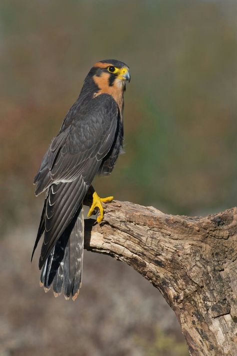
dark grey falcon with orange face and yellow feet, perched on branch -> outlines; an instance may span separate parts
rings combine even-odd
[[[110,174],[122,152],[126,81],[130,74],[124,63],[103,60],[94,64],[34,179],[35,195],[46,194],[32,257],[43,234],[40,285],[45,291],[52,285],[55,296],[63,290],[66,299],[75,300],[79,293],[83,199],[90,191],[93,201],[88,216],[98,210],[97,222],[103,219],[101,202],[113,199],[99,198],[91,182],[96,173]]]

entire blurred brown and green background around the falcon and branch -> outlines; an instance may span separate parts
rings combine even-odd
[[[93,63],[130,67],[125,155],[103,195],[170,214],[236,205],[237,3],[0,2],[0,354],[185,356],[173,311],[130,267],[85,252],[72,302],[39,288],[33,177]]]

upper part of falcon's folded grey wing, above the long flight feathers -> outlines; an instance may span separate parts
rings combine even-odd
[[[113,143],[117,124],[115,100],[107,94],[92,99],[86,115],[78,114],[52,141],[34,180],[35,193],[52,183],[71,182],[86,170],[89,159],[101,160]]]

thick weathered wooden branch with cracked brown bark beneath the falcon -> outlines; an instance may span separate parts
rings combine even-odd
[[[236,356],[237,208],[187,217],[113,201],[104,212],[99,225],[86,221],[85,248],[127,263],[161,292],[191,355]]]

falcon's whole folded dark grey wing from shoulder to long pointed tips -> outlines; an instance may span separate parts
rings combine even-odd
[[[109,152],[118,132],[118,109],[114,99],[101,94],[78,110],[66,129],[52,141],[34,183],[35,194],[47,191],[35,247],[44,231],[39,268],[68,227]]]

